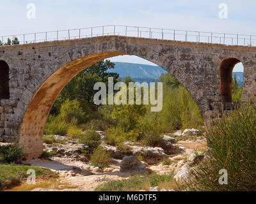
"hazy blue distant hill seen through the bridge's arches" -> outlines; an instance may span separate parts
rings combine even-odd
[[[159,79],[161,73],[167,73],[159,66],[151,66],[147,64],[134,64],[128,62],[114,62],[115,69],[109,72],[116,72],[122,80],[125,77],[131,77],[135,82],[154,82]],[[238,85],[243,86],[243,72],[233,72],[233,78],[236,75]]]

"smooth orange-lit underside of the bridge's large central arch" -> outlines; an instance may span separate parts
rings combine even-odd
[[[24,147],[28,159],[37,158],[42,155],[43,135],[47,117],[54,101],[65,85],[67,85],[72,78],[76,77],[78,73],[89,66],[92,66],[96,62],[108,59],[110,57],[116,57],[118,55],[131,54],[124,52],[99,52],[97,54],[90,54],[78,59],[74,59],[73,61],[68,62],[61,68],[54,71],[54,73],[52,73],[44,81],[44,83],[40,85],[29,102],[28,108],[26,108],[26,112],[24,113],[24,117],[19,129],[19,144]],[[151,62],[156,64],[154,61]],[[168,72],[170,73],[170,71]],[[178,77],[175,78],[179,80]],[[180,84],[182,84],[182,82],[180,82]],[[185,88],[188,91],[187,87]],[[191,95],[190,92],[189,94]]]

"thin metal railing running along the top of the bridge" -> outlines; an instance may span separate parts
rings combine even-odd
[[[159,29],[153,27],[136,27],[128,25],[105,25],[61,31],[15,34],[11,36],[1,36],[0,41],[2,44],[4,44],[8,41],[8,38],[11,41],[18,38],[20,44],[26,44],[109,35],[160,40],[191,41],[200,43],[218,43],[224,45],[256,46],[256,36],[253,35],[181,31],[175,29]]]

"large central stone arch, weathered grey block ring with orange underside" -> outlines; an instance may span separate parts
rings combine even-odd
[[[109,40],[109,38],[111,38]],[[89,42],[79,45],[79,40],[74,46],[68,42],[68,46],[56,48],[66,50],[59,53],[58,57],[51,58],[45,62],[45,71],[39,73],[39,77],[33,77],[26,86],[20,101],[17,104],[17,116],[20,118],[19,143],[28,153],[28,158],[36,158],[42,154],[42,140],[45,123],[57,96],[65,85],[83,69],[95,62],[118,55],[137,55],[146,59],[161,68],[165,69],[177,78],[180,84],[184,85],[189,94],[195,100],[203,115],[205,111],[204,88],[198,88],[189,66],[195,66],[192,59],[180,56],[175,53],[175,47],[159,47],[158,44],[127,42],[127,39],[120,37],[95,38],[96,42]],[[118,41],[116,41],[118,38]],[[70,45],[71,44],[71,45]],[[168,50],[167,53],[164,53]],[[170,51],[170,52],[169,52]],[[173,53],[172,53],[173,51]],[[186,62],[187,60],[191,62]],[[193,67],[194,68],[194,67]],[[198,80],[198,79],[197,79]],[[16,112],[15,112],[16,113]],[[19,113],[19,114],[18,114]]]

